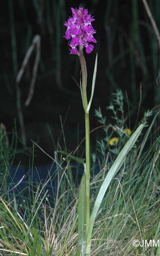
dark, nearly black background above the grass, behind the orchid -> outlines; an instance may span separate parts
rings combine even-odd
[[[158,28],[160,28],[160,1],[147,1]],[[91,129],[98,126],[94,116],[95,108],[111,121],[110,112],[105,109],[115,89],[127,93],[131,128],[137,117],[142,85],[142,102],[139,120],[144,111],[159,104],[159,88],[156,78],[160,72],[160,55],[155,33],[141,0],[8,0],[0,1],[0,122],[10,132],[16,127],[20,136],[20,125],[16,108],[16,75],[20,70],[27,49],[38,34],[41,37],[41,57],[35,83],[33,99],[24,106],[29,93],[36,50],[27,64],[20,81],[21,105],[27,137],[27,146],[37,142],[53,156],[55,141],[64,147],[61,134],[60,116],[64,124],[65,141],[68,151],[75,150],[77,134],[79,141],[84,137],[84,111],[80,91],[73,80],[79,83],[79,58],[69,55],[68,41],[63,38],[67,21],[71,16],[70,7],[82,5],[94,16],[92,23],[96,30],[97,43],[91,54],[85,54],[88,72],[88,98],[91,92],[92,75],[96,52],[98,69],[95,94],[90,109]],[[15,37],[12,32],[15,30]],[[12,41],[12,43],[11,43]],[[14,41],[14,42],[13,42]],[[13,45],[15,48],[13,48]],[[14,60],[13,60],[14,59]],[[125,98],[125,109],[128,112]],[[47,126],[48,124],[48,126]],[[79,129],[79,132],[78,132]],[[95,144],[96,135],[91,135]],[[21,143],[18,147],[22,147]],[[82,145],[83,149],[83,145]],[[30,155],[29,151],[27,152]],[[35,161],[48,160],[37,149]],[[18,158],[20,158],[18,156]]]

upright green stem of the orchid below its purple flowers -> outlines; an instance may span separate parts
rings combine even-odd
[[[86,237],[86,247],[85,247],[85,255],[89,254],[89,241],[87,241],[87,233],[89,229],[90,224],[90,148],[89,148],[89,113],[87,113],[87,68],[85,64],[85,58],[83,55],[83,50],[79,50],[79,58],[80,58],[80,64],[82,68],[82,97],[84,102],[84,111],[85,111],[85,161],[86,161],[86,170],[85,170],[85,177],[86,177],[86,231],[85,231],[85,237]],[[88,245],[88,246],[87,246]]]

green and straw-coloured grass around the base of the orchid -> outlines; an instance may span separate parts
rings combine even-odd
[[[159,255],[156,247],[133,247],[134,239],[141,242],[160,237],[160,137],[146,149],[144,136],[107,189],[93,227],[91,255]],[[117,147],[122,144],[120,141]],[[91,172],[91,209],[113,163],[112,155],[102,154],[98,164],[92,163],[95,171]],[[55,173],[48,175],[45,182],[34,183],[29,178],[24,191],[17,186],[18,195],[11,190],[0,198],[0,255],[81,255],[78,189],[71,173],[75,167],[72,160],[64,160],[61,154],[56,161]],[[48,197],[47,183],[55,178],[56,190],[51,187]]]

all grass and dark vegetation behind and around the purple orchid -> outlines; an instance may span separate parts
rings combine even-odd
[[[160,1],[147,2],[159,29]],[[102,202],[92,255],[158,256],[159,248],[132,243],[160,237],[160,48],[139,0],[0,2],[0,255],[80,255],[76,208],[83,167],[56,154],[58,148],[84,157],[80,65],[63,38],[70,7],[80,4],[94,15],[97,30],[94,52],[85,56],[91,88],[98,52],[91,207],[128,139],[124,129],[146,124]],[[112,137],[119,139],[115,145]]]

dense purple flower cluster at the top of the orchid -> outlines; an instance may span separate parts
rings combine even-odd
[[[86,48],[87,53],[91,53],[94,46],[91,42],[96,43],[93,34],[96,33],[91,22],[94,21],[91,14],[88,15],[88,9],[79,7],[79,9],[71,8],[73,18],[69,17],[68,21],[64,23],[67,27],[64,38],[70,40],[69,46],[71,47],[72,54],[79,54],[77,46],[80,49]]]

